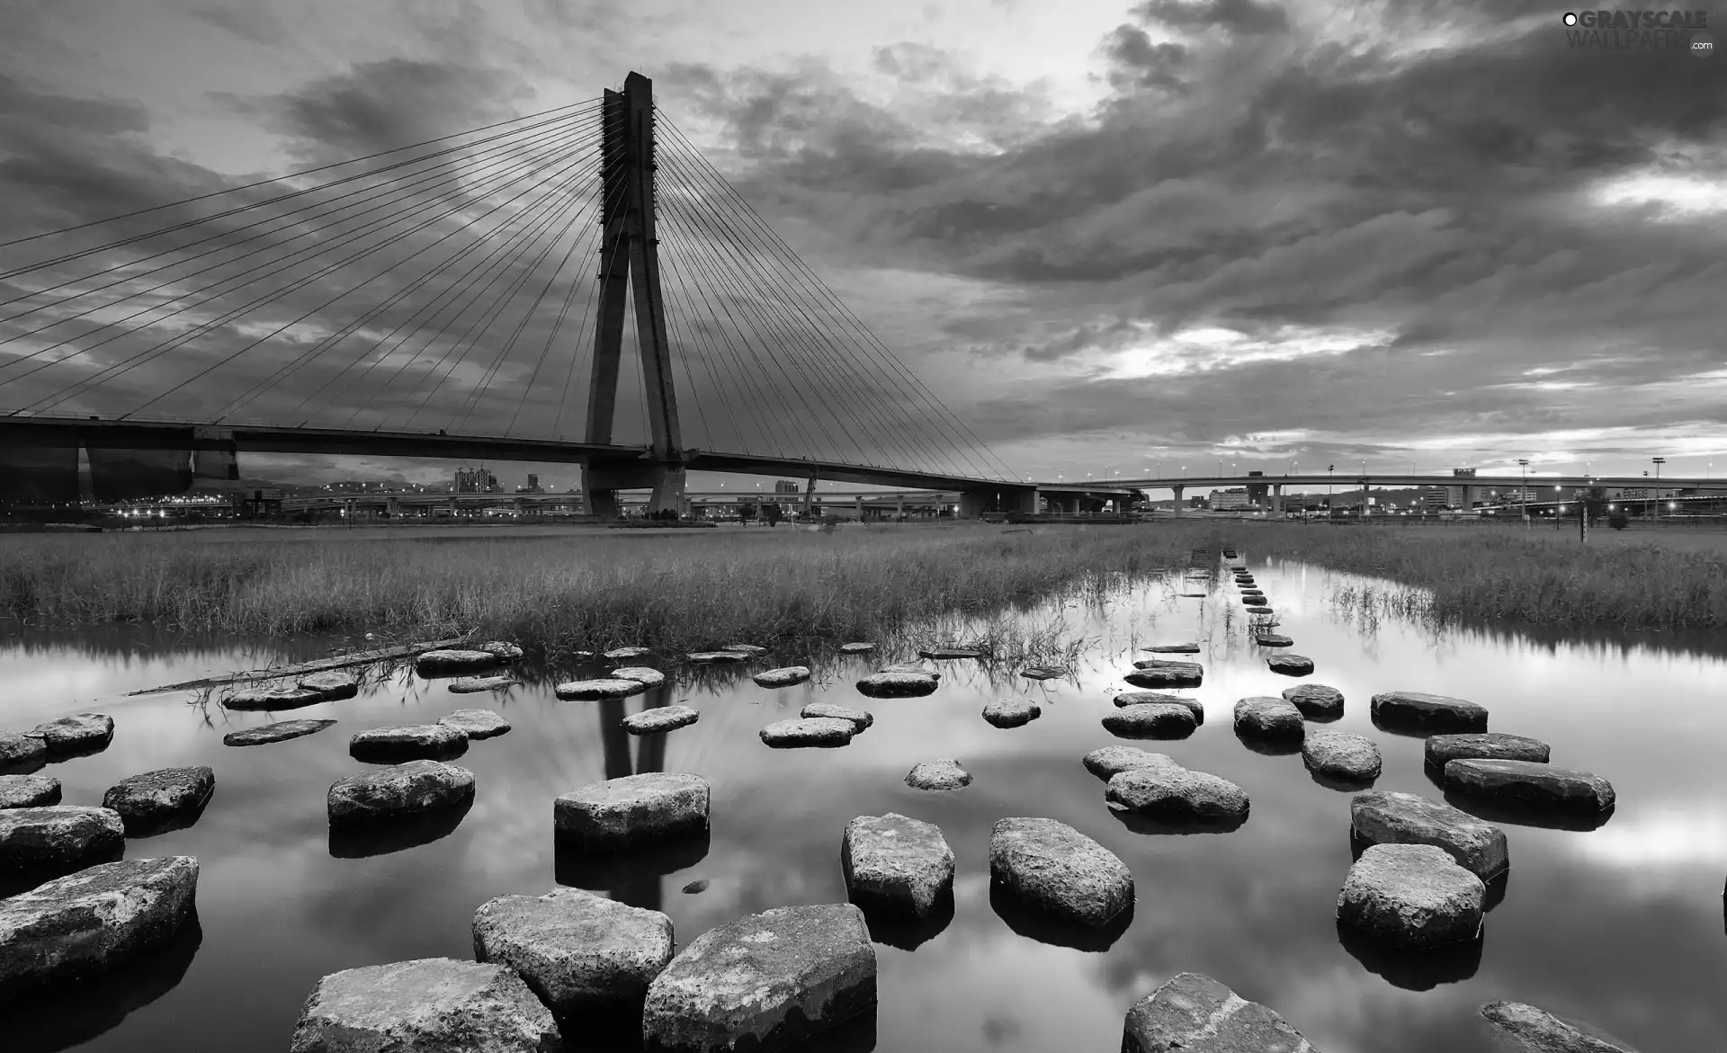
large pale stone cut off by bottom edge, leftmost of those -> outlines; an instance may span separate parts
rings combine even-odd
[[[506,965],[420,958],[333,972],[313,987],[288,1053],[560,1050],[558,1022]]]

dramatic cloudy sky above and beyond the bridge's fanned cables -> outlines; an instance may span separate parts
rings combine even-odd
[[[16,0],[0,242],[577,104],[636,69],[1017,473],[1727,473],[1727,59],[1572,50],[1561,12]],[[304,399],[309,373],[278,394]],[[12,409],[29,399],[7,376]],[[131,380],[116,388],[178,383]],[[696,387],[713,414],[755,397]]]

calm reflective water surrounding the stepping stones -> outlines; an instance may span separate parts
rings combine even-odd
[[[1318,672],[1347,697],[1335,727],[1370,735],[1385,754],[1378,789],[1439,796],[1421,770],[1421,739],[1376,730],[1368,696],[1418,689],[1475,699],[1494,730],[1553,744],[1556,763],[1613,780],[1618,811],[1592,832],[1506,825],[1511,877],[1487,917],[1478,960],[1357,958],[1338,939],[1337,892],[1351,863],[1349,794],[1316,784],[1299,754],[1268,756],[1230,727],[1233,703],[1295,680],[1269,673],[1249,646],[1233,585],[1181,599],[1180,578],[1109,611],[1069,608],[1069,625],[1098,637],[1072,682],[991,677],[941,663],[924,699],[864,699],[851,682],[886,656],[834,670],[827,682],[765,690],[734,675],[672,682],[642,704],[679,703],[701,722],[655,747],[617,730],[623,706],[560,703],[549,687],[454,696],[446,682],[397,673],[357,699],[282,718],[330,716],[326,732],[230,749],[223,732],[266,723],[187,703],[187,694],[114,696],[252,668],[256,651],[159,654],[48,644],[0,649],[0,723],[90,708],[116,722],[112,746],[52,765],[66,803],[97,804],[112,782],[150,768],[211,765],[216,796],[192,829],[128,844],[130,856],[199,858],[200,930],[147,963],[55,1005],[0,1022],[5,1048],[280,1050],[318,977],[340,968],[447,955],[471,956],[473,910],[492,896],[542,894],[556,880],[665,910],[680,944],[743,913],[845,899],[839,839],[855,815],[900,811],[939,823],[958,858],[955,915],[915,951],[877,944],[881,1012],[846,1048],[882,1051],[1114,1051],[1126,1008],[1174,972],[1195,970],[1281,1012],[1326,1053],[1458,1053],[1478,1048],[1477,1006],[1501,998],[1585,1018],[1649,1053],[1705,1053],[1727,1034],[1727,746],[1720,685],[1727,661],[1661,640],[1528,642],[1382,620],[1364,623],[1330,596],[1373,585],[1300,564],[1249,559]],[[1138,635],[1135,635],[1138,634]],[[1205,687],[1190,692],[1207,722],[1181,742],[1147,744],[1238,782],[1252,817],[1230,834],[1142,834],[1104,806],[1104,784],[1079,765],[1117,742],[1100,727],[1126,689],[1135,644],[1199,639]],[[287,647],[307,658],[306,647]],[[794,665],[774,656],[750,668]],[[598,675],[599,670],[560,670]],[[684,673],[679,673],[684,675]],[[998,730],[979,716],[998,694],[1040,699],[1043,718]],[[770,751],[769,722],[808,701],[864,706],[876,727],[845,749]],[[428,844],[337,846],[325,820],[328,785],[363,765],[347,735],[383,723],[432,722],[494,706],[515,730],[475,742],[456,763],[475,772],[473,810]],[[952,794],[903,785],[907,770],[957,758],[976,782]],[[713,832],[701,860],[634,873],[560,870],[551,799],[577,785],[663,766],[713,785]],[[1116,851],[1133,870],[1133,924],[1107,949],[1041,943],[996,915],[988,841],[996,818],[1052,817]],[[656,873],[677,867],[670,873]],[[708,879],[699,894],[680,889]],[[83,1043],[83,1044],[79,1044]],[[831,1048],[822,1046],[822,1048]]]

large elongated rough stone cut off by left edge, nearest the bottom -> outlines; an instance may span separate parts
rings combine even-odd
[[[102,863],[0,899],[0,999],[76,984],[166,943],[197,887],[197,860],[164,856]]]

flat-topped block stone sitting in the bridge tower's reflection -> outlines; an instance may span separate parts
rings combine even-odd
[[[649,772],[594,782],[553,801],[558,841],[591,851],[630,849],[708,829],[708,780]]]

